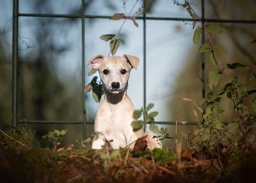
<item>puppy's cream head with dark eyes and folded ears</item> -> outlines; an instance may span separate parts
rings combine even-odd
[[[131,55],[123,57],[97,55],[90,59],[88,65],[99,71],[100,79],[106,89],[113,94],[127,89],[127,83],[132,68],[137,69],[140,59]]]

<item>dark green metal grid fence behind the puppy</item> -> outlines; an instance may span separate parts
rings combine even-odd
[[[18,55],[18,39],[19,39],[19,17],[56,17],[56,18],[81,18],[81,57],[82,57],[82,89],[84,89],[84,85],[86,83],[85,78],[85,64],[84,64],[84,45],[85,45],[85,39],[84,39],[84,20],[86,18],[110,18],[109,16],[94,16],[94,15],[86,15],[84,14],[84,0],[82,1],[82,9],[80,15],[63,15],[63,14],[42,14],[42,13],[19,13],[19,0],[13,0],[13,47],[12,47],[12,113],[13,113],[13,119],[12,123],[13,126],[17,126],[21,121],[19,121],[18,117],[18,96],[19,96],[19,89],[18,89],[18,81],[19,81],[19,55]],[[205,19],[205,0],[201,0],[201,18],[202,21],[205,22],[220,22],[220,23],[241,23],[241,24],[256,24],[255,20],[218,20],[218,19]],[[144,14],[142,17],[136,17],[137,19],[143,20],[143,105],[146,106],[146,25],[147,20],[169,20],[169,21],[186,21],[186,22],[192,22],[194,21],[193,18],[177,18],[177,17],[148,17],[147,14]],[[199,21],[199,20],[196,20]],[[205,33],[203,31],[202,33],[202,42],[201,44],[205,43]],[[201,68],[202,68],[202,98],[205,97],[205,54],[201,54]],[[83,137],[86,138],[86,124],[88,122],[86,121],[86,105],[85,105],[85,96],[84,91],[82,90],[83,95],[83,105],[81,106],[83,112],[83,121],[27,121],[27,123],[50,123],[50,124],[83,124]],[[205,109],[205,106],[202,106],[203,109]],[[157,124],[175,124],[175,122],[156,122]],[[190,122],[189,124],[196,124],[195,122]]]

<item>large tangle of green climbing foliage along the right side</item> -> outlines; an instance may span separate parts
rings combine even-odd
[[[206,148],[207,150],[212,150],[212,152],[220,149],[218,148],[220,144],[234,146],[236,139],[230,133],[230,129],[239,128],[241,135],[243,135],[246,131],[246,126],[256,122],[256,75],[253,73],[246,84],[243,81],[239,81],[237,77],[228,80],[226,70],[246,71],[248,73],[250,68],[241,62],[228,63],[226,66],[221,65],[221,61],[216,56],[216,48],[218,47],[212,38],[214,34],[222,33],[220,24],[200,20],[190,6],[189,1],[184,1],[184,4],[176,0],[173,1],[174,4],[186,8],[193,20],[198,18],[201,25],[196,27],[194,31],[193,43],[197,45],[200,42],[204,31],[208,42],[201,45],[198,50],[207,54],[209,61],[213,64],[213,68],[209,71],[207,78],[210,91],[201,101],[206,106],[205,112],[202,116],[202,121],[198,124],[198,128],[194,131],[195,138],[193,143],[198,145],[200,149]],[[193,28],[195,27],[195,21],[192,26]],[[225,81],[222,86],[220,85],[220,80]],[[217,87],[220,88],[219,91],[216,91]],[[230,106],[233,108],[234,119],[230,122],[223,122],[222,120],[225,110],[219,108],[219,106],[223,101],[229,101]],[[220,155],[220,152],[218,154]]]

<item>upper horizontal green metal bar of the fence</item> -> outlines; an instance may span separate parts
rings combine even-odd
[[[20,17],[54,17],[54,18],[82,18],[82,15],[68,15],[68,14],[49,14],[49,13],[19,13]],[[84,18],[111,18],[112,16],[104,15],[84,15]],[[136,17],[138,20],[172,20],[172,21],[188,21],[199,22],[199,19],[193,18],[177,18],[177,17]],[[232,23],[232,24],[255,24],[256,20],[234,20],[234,19],[202,19],[204,22],[217,22],[217,23]]]

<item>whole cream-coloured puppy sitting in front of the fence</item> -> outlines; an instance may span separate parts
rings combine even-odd
[[[123,57],[104,57],[97,55],[90,59],[88,64],[99,71],[102,81],[104,98],[95,117],[92,149],[102,149],[108,141],[113,149],[134,147],[134,143],[141,136],[147,135],[148,148],[161,148],[161,145],[152,138],[154,133],[145,133],[143,129],[134,132],[131,126],[134,106],[127,96],[127,84],[132,68],[137,69],[139,59],[131,55]],[[126,72],[125,72],[126,71]]]

